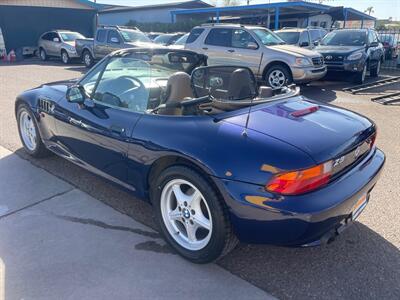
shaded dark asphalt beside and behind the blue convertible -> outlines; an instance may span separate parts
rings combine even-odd
[[[156,229],[151,206],[58,157],[21,157],[96,199]],[[140,250],[168,253],[159,245]],[[239,245],[218,262],[231,273],[281,299],[400,299],[400,251],[356,222],[333,243],[315,248]]]

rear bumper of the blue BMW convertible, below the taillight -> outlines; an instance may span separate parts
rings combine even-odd
[[[238,238],[249,243],[312,246],[328,242],[351,224],[355,204],[369,195],[385,162],[371,151],[328,186],[300,196],[278,196],[259,185],[217,179]]]

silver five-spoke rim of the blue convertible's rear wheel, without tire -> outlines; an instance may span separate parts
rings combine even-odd
[[[211,211],[202,193],[184,179],[173,179],[161,193],[161,215],[171,237],[187,250],[207,246],[213,225]]]

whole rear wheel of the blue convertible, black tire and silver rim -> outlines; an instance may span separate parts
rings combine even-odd
[[[193,196],[194,191],[199,197]],[[164,170],[151,188],[151,200],[160,231],[187,260],[209,263],[237,245],[227,208],[214,187],[193,169],[173,166]],[[191,235],[190,228],[196,228],[190,230]]]

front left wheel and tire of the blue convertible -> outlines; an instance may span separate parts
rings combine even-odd
[[[24,120],[30,120],[32,123],[29,125],[28,129],[28,122],[24,124]],[[40,132],[38,129],[38,126],[36,124],[36,119],[33,116],[32,111],[26,104],[20,104],[17,108],[17,123],[18,123],[18,133],[19,137],[21,139],[22,145],[24,146],[25,151],[36,158],[42,158],[50,155],[50,151],[46,148],[46,146],[42,142],[42,137],[40,136]],[[25,126],[26,125],[26,126]],[[35,143],[32,142],[32,140],[26,136],[27,131],[31,132],[33,134],[34,132],[34,140]]]

